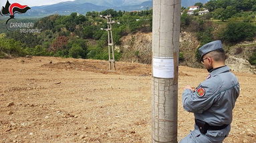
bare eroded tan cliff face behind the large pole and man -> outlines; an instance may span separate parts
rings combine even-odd
[[[180,53],[183,54],[184,60],[180,65],[203,68],[203,65],[197,62],[196,53],[200,42],[196,38],[196,33],[182,31],[180,33]],[[246,44],[245,44],[246,43]],[[255,41],[241,42],[237,45],[229,46],[223,45],[227,52],[227,65],[233,71],[251,72],[256,74],[256,67],[250,65],[249,57],[252,55],[251,51],[256,49]],[[118,47],[123,51],[121,61],[138,62],[151,64],[152,54],[152,33],[136,33],[122,37],[122,45]],[[228,50],[229,49],[229,50]],[[237,53],[240,51],[240,53]]]

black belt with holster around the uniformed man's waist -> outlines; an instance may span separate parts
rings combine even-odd
[[[207,122],[203,120],[195,119],[197,126],[202,134],[206,134],[207,130],[222,130],[229,126],[229,124],[223,124],[222,126],[210,126]]]

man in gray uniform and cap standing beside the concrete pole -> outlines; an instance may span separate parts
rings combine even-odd
[[[195,115],[195,130],[180,143],[221,143],[231,130],[232,110],[239,96],[239,82],[225,65],[221,41],[199,49],[201,62],[210,72],[197,88],[185,86],[182,104]]]

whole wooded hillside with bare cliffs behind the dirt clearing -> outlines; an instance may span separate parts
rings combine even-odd
[[[78,2],[83,5],[82,1]],[[240,5],[239,0],[234,0],[231,3],[233,6],[229,7],[227,3],[219,5],[221,0],[217,2],[204,6],[214,7],[205,15],[199,15],[197,12],[189,15],[186,13],[188,9],[182,7],[180,65],[202,67],[198,62],[200,56],[197,49],[211,41],[221,40],[227,55],[230,56],[227,63],[232,65],[235,71],[255,72],[255,67],[251,66],[256,65],[256,11],[253,3]],[[143,8],[140,5],[139,7]],[[231,13],[225,15],[227,11]],[[35,22],[35,28],[40,29],[41,33],[15,31],[1,34],[0,58],[33,55],[108,60],[108,33],[101,30],[107,28],[106,19],[100,17],[108,14],[112,15],[112,20],[118,21],[112,25],[116,61],[150,64],[152,9],[131,12],[107,9],[100,12],[90,11],[86,15],[72,13],[43,17]]]

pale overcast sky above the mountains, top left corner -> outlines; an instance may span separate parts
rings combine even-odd
[[[74,0],[9,0],[9,3],[19,3],[21,5],[27,5],[29,7],[39,5],[52,5],[63,1],[74,1]],[[96,0],[97,1],[97,0]],[[7,0],[0,0],[0,6],[5,6]]]

